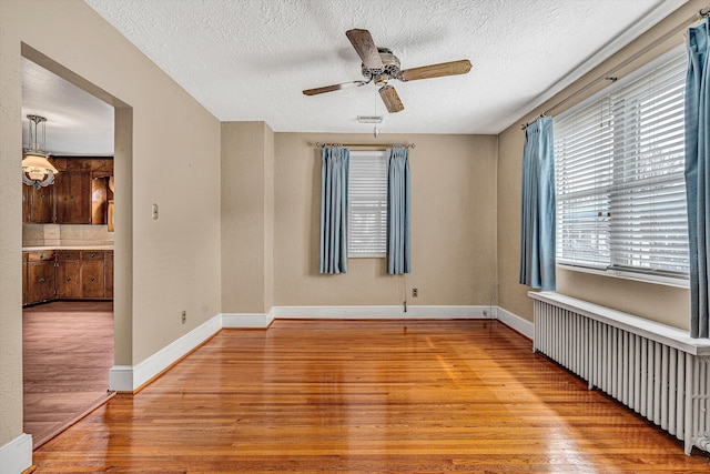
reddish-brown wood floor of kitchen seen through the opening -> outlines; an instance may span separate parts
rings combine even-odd
[[[37,447],[110,396],[113,303],[26,307],[22,355],[24,432]]]

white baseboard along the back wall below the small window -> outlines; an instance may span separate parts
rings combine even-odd
[[[495,317],[489,306],[276,306],[282,320],[481,320]]]

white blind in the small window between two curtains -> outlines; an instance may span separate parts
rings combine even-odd
[[[387,152],[351,151],[347,256],[387,251]]]

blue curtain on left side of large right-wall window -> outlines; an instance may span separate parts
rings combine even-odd
[[[520,283],[554,291],[555,155],[552,119],[542,117],[525,131],[523,149]]]

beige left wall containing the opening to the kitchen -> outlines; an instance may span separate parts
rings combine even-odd
[[[219,121],[83,1],[0,1],[0,446],[22,433],[17,177],[20,58],[30,49],[124,107],[116,113],[115,307],[130,320],[118,322],[116,362],[135,364],[220,313]]]

